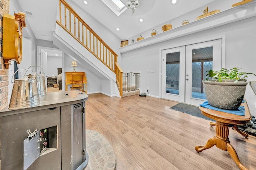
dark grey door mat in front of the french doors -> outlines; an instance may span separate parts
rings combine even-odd
[[[199,109],[199,107],[197,106],[193,106],[193,105],[189,105],[189,104],[183,104],[183,103],[178,103],[172,107],[170,107],[170,109],[176,110],[176,111],[181,111],[183,113],[187,113],[196,117],[201,117],[203,119],[207,119],[210,121],[214,121],[213,119],[210,119],[209,117],[206,117],[205,115],[203,115]]]

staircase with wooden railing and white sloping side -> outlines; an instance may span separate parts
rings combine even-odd
[[[84,65],[93,68],[108,81],[107,87],[112,94],[121,88],[116,96],[122,98],[122,69],[117,62],[117,54],[85,23],[82,18],[66,3],[59,0],[57,10],[56,30],[54,33],[54,45],[64,53],[75,57]],[[105,84],[105,83],[102,83]],[[115,86],[113,88],[113,86]]]

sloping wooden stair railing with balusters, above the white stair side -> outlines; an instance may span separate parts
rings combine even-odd
[[[66,1],[60,0],[59,8],[60,16],[59,21],[56,20],[56,23],[104,63],[110,70],[116,73],[115,63],[117,63],[118,55],[89,27],[89,25],[87,25],[87,23],[85,23],[84,20],[82,20],[78,14],[76,14]],[[63,16],[64,18],[62,18]],[[100,44],[100,46],[98,44]]]

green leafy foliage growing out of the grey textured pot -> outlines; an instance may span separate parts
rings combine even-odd
[[[219,82],[223,82],[223,80],[235,80],[234,82],[237,82],[238,80],[244,80],[248,77],[248,74],[253,74],[254,76],[256,76],[256,74],[251,73],[251,72],[244,72],[244,71],[240,71],[243,70],[242,68],[231,68],[231,69],[226,69],[226,68],[222,68],[220,69],[220,71],[214,71],[214,70],[208,70],[206,72],[208,72],[206,74],[206,76],[208,76],[209,78],[206,78],[206,80],[215,80],[215,81],[219,81]]]

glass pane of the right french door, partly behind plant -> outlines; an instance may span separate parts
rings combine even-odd
[[[192,98],[206,99],[202,80],[212,69],[212,49],[205,47],[192,50]]]

